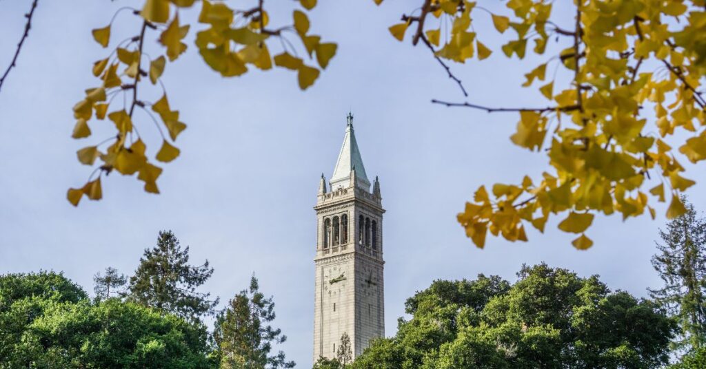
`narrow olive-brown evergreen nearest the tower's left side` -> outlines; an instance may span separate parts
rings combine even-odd
[[[273,320],[273,298],[265,298],[253,275],[249,289],[229,301],[228,307],[216,318],[213,339],[220,356],[220,368],[293,368],[294,361],[285,361],[283,351],[270,356],[273,344],[287,339],[281,329],[268,324]]]

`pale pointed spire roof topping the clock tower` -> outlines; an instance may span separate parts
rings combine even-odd
[[[355,139],[355,132],[353,131],[353,114],[348,113],[346,133],[345,136],[343,136],[343,145],[338,154],[336,167],[333,169],[333,176],[331,176],[331,189],[334,190],[338,187],[350,186],[352,170],[355,171],[356,184],[366,190],[369,189],[370,181],[365,174],[363,159],[360,156],[358,143]]]

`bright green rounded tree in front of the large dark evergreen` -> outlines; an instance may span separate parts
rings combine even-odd
[[[23,337],[29,368],[210,368],[200,323],[117,299],[56,304]]]

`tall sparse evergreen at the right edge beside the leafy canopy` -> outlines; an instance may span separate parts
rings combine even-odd
[[[681,326],[676,348],[690,350],[706,341],[706,219],[682,200],[686,213],[659,230],[662,243],[657,243],[659,253],[652,257],[652,265],[664,286],[650,294]]]

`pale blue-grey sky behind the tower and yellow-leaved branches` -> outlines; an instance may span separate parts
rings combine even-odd
[[[249,3],[229,1],[246,8]],[[275,1],[269,2],[275,6]],[[92,169],[79,164],[76,150],[95,145],[109,129],[91,123],[95,136],[71,139],[71,108],[83,90],[95,87],[92,63],[107,52],[90,35],[109,23],[116,9],[139,1],[40,0],[30,37],[17,68],[0,91],[0,273],[63,271],[92,291],[92,277],[105,267],[131,274],[160,230],[171,229],[191,261],[215,268],[203,286],[222,305],[246,288],[253,272],[261,290],[274,296],[275,326],[289,338],[280,349],[298,366],[311,366],[316,204],[321,173],[330,178],[345,133],[354,126],[366,172],[379,176],[385,245],[385,334],[393,335],[404,302],[434,279],[472,279],[479,273],[514,281],[523,263],[547,262],[582,276],[599,274],[611,289],[647,296],[659,286],[650,265],[666,207],[657,219],[623,222],[599,215],[587,235],[594,246],[575,250],[571,234],[549,222],[544,234],[528,230],[530,241],[491,238],[481,250],[457,224],[473,191],[485,184],[538,178],[547,159],[510,143],[515,114],[487,114],[431,104],[431,99],[464,101],[424,47],[397,42],[387,28],[399,23],[419,1],[320,1],[311,12],[311,32],[337,42],[338,52],[313,87],[302,92],[290,71],[250,71],[222,78],[205,65],[193,46],[168,63],[163,82],[173,109],[188,128],[177,146],[181,156],[164,165],[160,195],[145,193],[133,177],[102,180],[103,200],[85,198],[78,208],[66,200]],[[277,5],[274,24],[289,23],[291,8]],[[556,2],[555,2],[556,4]],[[484,4],[486,5],[486,4]],[[15,50],[30,1],[2,1],[0,66]],[[138,5],[135,5],[138,6]],[[268,6],[268,1],[265,1]],[[486,6],[491,11],[495,2]],[[558,23],[570,28],[570,9],[556,4]],[[193,23],[198,11],[184,11]],[[563,23],[562,23],[563,22]],[[479,37],[498,48],[488,19],[474,23]],[[119,13],[112,44],[138,32],[128,12]],[[157,35],[148,34],[148,52],[157,53]],[[294,37],[290,37],[294,42]],[[559,46],[551,46],[555,51]],[[301,52],[301,47],[299,47]],[[548,59],[507,59],[495,52],[486,61],[453,63],[469,92],[467,101],[490,106],[545,106],[536,89],[520,87],[523,74]],[[558,74],[561,80],[561,73]],[[556,84],[555,84],[556,85]],[[160,90],[145,87],[140,97],[155,101]],[[148,116],[136,124],[154,155],[159,136]],[[103,133],[101,135],[101,133]],[[688,191],[706,208],[706,174],[682,159],[686,175],[698,182]]]

